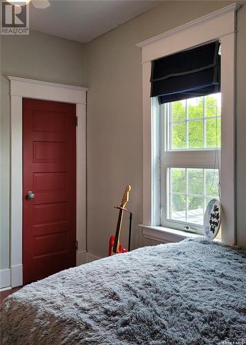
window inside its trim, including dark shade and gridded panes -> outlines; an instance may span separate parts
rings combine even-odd
[[[219,197],[220,42],[152,61],[150,81],[161,104],[161,226],[203,233],[207,204]]]

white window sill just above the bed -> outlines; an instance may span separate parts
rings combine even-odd
[[[165,228],[164,226],[148,226],[139,224],[143,229],[143,236],[161,243],[180,242],[187,237],[203,237],[203,235],[188,233],[187,231]]]

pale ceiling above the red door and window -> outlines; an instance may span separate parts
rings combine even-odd
[[[50,0],[38,10],[30,5],[30,28],[87,43],[158,6],[156,0]]]

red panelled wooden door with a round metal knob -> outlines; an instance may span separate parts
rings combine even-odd
[[[75,126],[74,104],[23,99],[23,283],[76,265]]]

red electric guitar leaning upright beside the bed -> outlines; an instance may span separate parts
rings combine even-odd
[[[120,253],[126,253],[127,250],[125,248],[122,248],[119,239],[120,239],[120,234],[121,234],[121,224],[122,224],[122,219],[123,219],[123,212],[125,205],[127,204],[127,201],[129,200],[129,193],[131,190],[131,186],[128,185],[125,188],[125,193],[123,195],[123,198],[121,200],[121,206],[119,207],[119,217],[117,221],[117,226],[116,226],[116,231],[115,235],[112,235],[110,237],[110,246],[109,246],[109,251],[108,251],[108,256],[110,257],[111,255],[114,254],[120,254]]]

